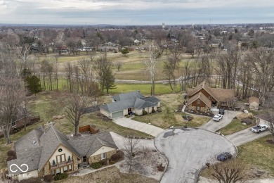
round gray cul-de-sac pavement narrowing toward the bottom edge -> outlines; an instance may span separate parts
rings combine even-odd
[[[197,182],[201,168],[216,154],[227,151],[235,156],[235,146],[225,137],[207,130],[181,128],[164,130],[155,146],[169,159],[161,182]]]

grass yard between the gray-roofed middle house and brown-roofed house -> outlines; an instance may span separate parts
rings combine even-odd
[[[178,110],[178,105],[183,103],[183,97],[181,94],[164,94],[157,96],[161,100],[162,113],[152,113],[143,116],[136,116],[133,120],[148,123],[163,129],[167,129],[171,126],[182,127],[185,126],[185,120],[182,115],[185,113],[175,112]],[[189,127],[199,127],[200,125],[208,122],[209,117],[203,117],[200,115],[192,115],[193,120],[188,122]]]

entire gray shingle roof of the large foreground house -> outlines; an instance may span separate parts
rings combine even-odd
[[[8,167],[13,163],[16,163],[18,166],[27,164],[29,167],[28,172],[37,169],[40,171],[60,144],[79,158],[81,156],[90,156],[100,149],[101,146],[110,146],[118,149],[110,132],[69,140],[53,125],[48,127],[46,132],[44,132],[44,127],[41,126],[15,141],[17,159],[8,161]],[[10,173],[13,172],[10,171]]]

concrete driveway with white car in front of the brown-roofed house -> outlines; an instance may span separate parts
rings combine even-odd
[[[214,111],[214,114],[217,114],[217,113],[218,113],[217,111]],[[239,113],[240,113],[239,111],[226,110],[225,114],[223,115],[223,119],[221,119],[219,122],[214,121],[212,118],[209,122],[205,123],[199,128],[204,130],[209,130],[211,132],[216,132],[220,130],[222,127],[226,127],[226,125],[228,125],[233,120],[233,118],[235,118],[235,116]]]

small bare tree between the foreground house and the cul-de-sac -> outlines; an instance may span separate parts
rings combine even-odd
[[[126,138],[124,139],[124,149],[126,151],[124,157],[126,164],[129,165],[129,172],[131,171],[132,166],[136,165],[135,153],[138,149],[139,139]]]

